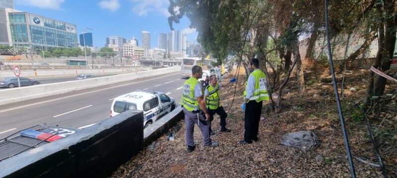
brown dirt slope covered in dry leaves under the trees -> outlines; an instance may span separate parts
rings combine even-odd
[[[244,136],[244,112],[241,110],[242,92],[245,89],[244,69],[240,70],[235,85],[221,90],[222,105],[228,112],[227,127],[231,133],[219,133],[219,117],[212,122],[216,131],[211,138],[219,147],[203,146],[199,128],[195,127],[196,150],[187,153],[184,120],[175,140],[166,136],[156,140],[155,150],[148,147],[114,172],[114,178],[341,178],[350,177],[344,149],[339,116],[329,69],[315,64],[305,64],[306,93],[299,95],[296,78],[283,90],[282,109],[272,112],[264,103],[259,128],[259,141],[240,145]],[[345,73],[344,97],[341,98],[346,131],[352,155],[378,164],[363,115],[355,102],[364,96],[368,70]],[[227,79],[233,78],[232,72]],[[341,75],[337,75],[341,83]],[[227,79],[225,81],[227,81]],[[386,93],[396,95],[397,84],[388,82]],[[340,91],[340,86],[339,86]],[[235,92],[235,97],[233,94]],[[276,100],[276,97],[273,97]],[[232,103],[234,99],[234,102]],[[376,136],[389,177],[397,178],[397,98],[385,101],[380,109],[367,112]],[[283,134],[296,131],[313,131],[321,140],[314,150],[302,152],[280,143]],[[157,144],[158,144],[157,143]],[[316,161],[316,157],[319,161]],[[321,159],[323,158],[323,159]],[[380,178],[380,169],[353,158],[358,178]]]

